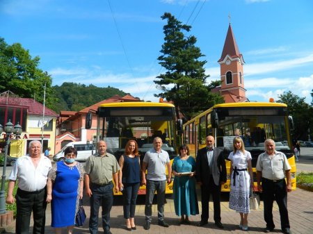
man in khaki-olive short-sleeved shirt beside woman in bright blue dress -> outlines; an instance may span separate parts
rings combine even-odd
[[[111,234],[110,212],[113,206],[113,183],[115,192],[119,192],[118,170],[120,166],[115,156],[106,152],[106,142],[98,142],[97,156],[90,156],[85,165],[85,188],[90,197],[89,231],[98,233],[99,207],[102,205],[102,225],[104,234]]]

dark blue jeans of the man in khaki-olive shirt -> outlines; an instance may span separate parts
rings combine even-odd
[[[113,206],[113,183],[109,185],[96,185],[90,183],[93,195],[90,197],[89,231],[91,234],[98,233],[99,207],[102,206],[102,227],[104,233],[110,231],[110,212]]]

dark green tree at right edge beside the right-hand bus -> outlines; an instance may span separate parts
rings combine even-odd
[[[312,130],[313,124],[312,106],[305,102],[305,98],[300,98],[291,91],[284,92],[278,98],[279,103],[285,103],[288,106],[289,115],[294,119],[293,140],[307,140],[308,129]]]

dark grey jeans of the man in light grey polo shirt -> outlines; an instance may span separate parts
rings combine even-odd
[[[151,222],[152,220],[152,201],[156,190],[158,203],[158,220],[160,222],[164,219],[166,181],[147,180],[147,194],[145,194],[145,220],[147,220],[148,222]]]

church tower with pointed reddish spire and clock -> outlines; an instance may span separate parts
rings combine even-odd
[[[228,26],[222,56],[220,56],[218,63],[220,64],[220,80],[222,81],[219,91],[225,103],[248,101],[243,76],[243,64],[245,62],[239,52],[231,25]]]

